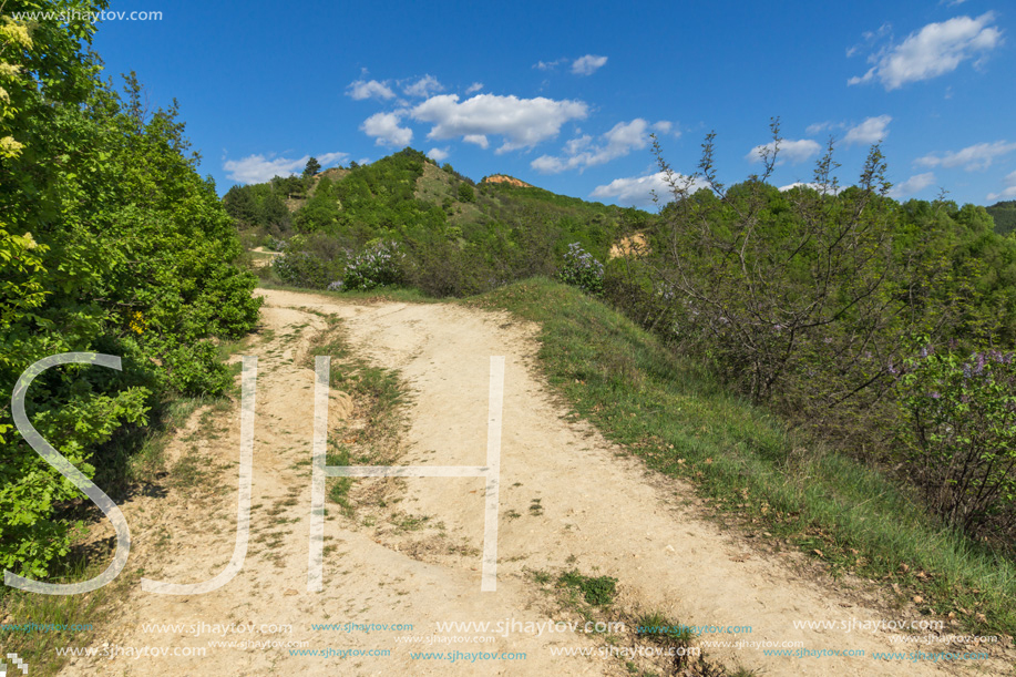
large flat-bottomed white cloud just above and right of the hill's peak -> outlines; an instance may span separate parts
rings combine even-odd
[[[476,94],[459,102],[458,94],[431,96],[412,110],[420,122],[433,124],[428,139],[454,139],[478,143],[480,136],[499,134],[504,143],[497,150],[532,147],[557,135],[561,125],[588,115],[582,101],[555,101],[537,96],[519,99],[495,94]],[[484,143],[485,143],[484,139]]]

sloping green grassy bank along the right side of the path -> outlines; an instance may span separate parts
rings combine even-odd
[[[543,279],[465,302],[540,322],[542,368],[572,414],[690,481],[718,515],[820,557],[834,575],[920,592],[922,611],[1016,633],[1013,562],[942,527],[876,469],[789,433],[619,312]]]

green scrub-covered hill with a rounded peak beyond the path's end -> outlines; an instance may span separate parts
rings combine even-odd
[[[234,186],[224,203],[249,246],[285,248],[275,267],[283,281],[327,287],[377,249],[406,257],[400,280],[439,296],[553,275],[572,243],[604,260],[619,235],[653,219],[514,182],[478,183],[412,148],[369,165]],[[350,285],[358,286],[351,275]]]

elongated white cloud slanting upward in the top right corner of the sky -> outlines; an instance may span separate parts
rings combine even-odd
[[[994,12],[985,12],[976,19],[956,17],[942,23],[928,23],[900,44],[869,57],[869,63],[874,65],[864,75],[851,78],[846,83],[860,84],[878,79],[886,91],[892,91],[907,82],[951,73],[964,61],[1002,44],[1002,31],[989,25],[994,21]]]

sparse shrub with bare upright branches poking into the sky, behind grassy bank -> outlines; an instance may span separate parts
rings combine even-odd
[[[761,174],[730,188],[717,177],[714,134],[690,176],[655,144],[674,198],[655,234],[655,294],[668,301],[673,338],[726,382],[801,420],[850,427],[893,383],[902,339],[936,336],[955,316],[957,298],[933,297],[945,277],[957,288],[956,274],[934,233],[897,242],[878,144],[855,186],[841,188],[830,140],[814,182],[781,192],[767,183],[779,121],[771,132]]]

